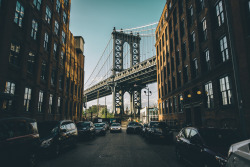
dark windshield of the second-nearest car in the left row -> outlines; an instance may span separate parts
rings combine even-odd
[[[39,122],[38,125],[38,132],[40,137],[49,136],[52,133],[56,133],[58,130],[59,123],[56,121],[51,122]]]

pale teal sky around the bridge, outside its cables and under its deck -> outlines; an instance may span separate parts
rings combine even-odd
[[[85,81],[89,78],[101,57],[113,27],[134,28],[158,22],[166,0],[71,0],[70,31],[85,40]],[[149,85],[152,96],[150,106],[157,104],[157,85]],[[142,107],[147,106],[147,96],[142,91]],[[129,95],[124,95],[124,106],[129,107]],[[97,100],[88,102],[87,107],[96,105]],[[104,105],[101,98],[99,104]],[[106,97],[111,109],[112,97]]]

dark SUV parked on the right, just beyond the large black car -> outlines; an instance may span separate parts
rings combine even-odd
[[[147,132],[145,137],[148,140],[152,139],[163,139],[170,141],[172,137],[172,132],[165,122],[151,121],[148,124]]]

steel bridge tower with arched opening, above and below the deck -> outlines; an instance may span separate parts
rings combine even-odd
[[[119,73],[124,70],[123,68],[123,46],[124,43],[128,43],[130,47],[130,67],[133,67],[136,64],[140,63],[140,40],[139,33],[134,35],[132,32],[130,34],[124,33],[121,31],[116,31],[113,29],[112,32],[113,37],[113,82],[114,76],[116,73]],[[123,95],[128,88],[125,88],[126,85],[116,85],[113,83],[112,88],[112,110],[113,113],[116,115],[120,115],[122,117],[124,113],[124,102],[123,102]],[[131,87],[130,86],[130,109],[131,112],[133,111],[135,114],[135,110],[138,109],[140,111],[141,108],[141,88]],[[118,113],[119,112],[119,113]]]

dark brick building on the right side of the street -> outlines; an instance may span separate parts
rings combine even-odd
[[[159,120],[249,132],[250,1],[167,0],[156,29]]]

